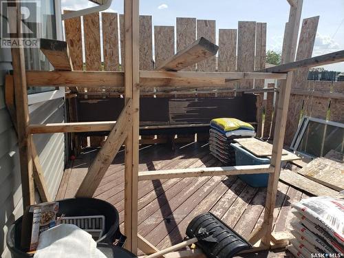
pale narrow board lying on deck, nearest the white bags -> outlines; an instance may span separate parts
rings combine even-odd
[[[285,182],[286,184],[290,184],[294,188],[300,189],[301,191],[305,191],[306,193],[310,193],[311,195],[315,196],[330,196],[330,197],[338,197],[339,193],[330,189],[327,186],[323,186],[317,182],[314,182],[308,178],[305,178],[303,175],[299,175],[293,171],[288,169],[281,170],[281,174],[279,175],[279,180]]]

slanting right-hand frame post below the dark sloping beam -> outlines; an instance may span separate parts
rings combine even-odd
[[[288,72],[286,80],[283,80],[279,93],[279,103],[277,105],[276,127],[274,133],[274,142],[272,146],[271,164],[275,169],[274,173],[270,173],[268,190],[266,193],[265,213],[263,229],[265,234],[261,241],[266,246],[270,246],[272,225],[274,222],[274,209],[277,195],[277,185],[279,182],[279,174],[281,173],[281,155],[283,149],[284,133],[286,132],[286,121],[288,114],[288,105],[290,98],[290,90],[292,88],[292,72]]]

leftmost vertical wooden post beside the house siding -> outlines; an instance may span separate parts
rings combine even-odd
[[[10,4],[10,3],[9,3]],[[18,3],[13,2],[17,9],[17,14],[8,14],[11,32],[16,32],[12,39],[18,39],[21,32],[21,8]],[[14,96],[17,109],[17,127],[19,157],[21,165],[21,189],[23,192],[23,208],[34,204],[34,177],[31,153],[31,142],[28,138],[29,109],[28,109],[28,89],[25,75],[25,56],[23,46],[12,47],[12,66],[14,78]]]

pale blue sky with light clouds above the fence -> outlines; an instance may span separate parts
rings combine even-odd
[[[95,6],[87,0],[62,0],[62,8],[80,10]],[[123,0],[113,0],[107,12],[123,13]],[[286,0],[141,0],[140,14],[151,15],[153,25],[174,25],[175,17],[216,20],[216,30],[237,29],[238,21],[267,23],[266,50],[281,52]],[[312,56],[344,50],[344,0],[303,0],[301,19],[320,16]],[[301,30],[301,26],[300,26]],[[344,62],[325,65],[344,72]]]

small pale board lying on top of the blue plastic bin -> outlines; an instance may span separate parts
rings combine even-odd
[[[257,140],[256,138],[235,139],[244,149],[255,154],[257,157],[266,157],[272,155],[272,144]],[[282,155],[287,155],[288,151],[283,149]]]

